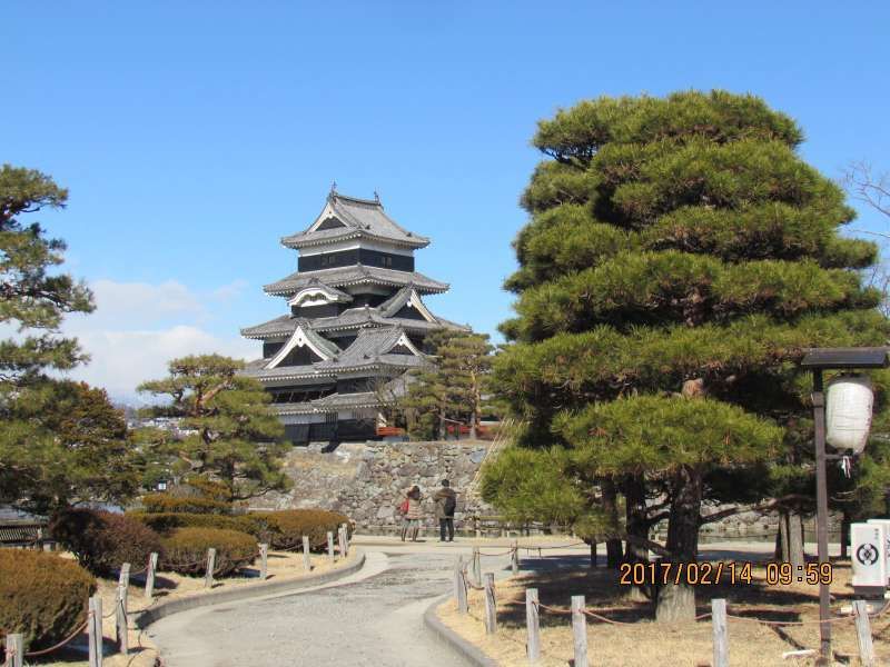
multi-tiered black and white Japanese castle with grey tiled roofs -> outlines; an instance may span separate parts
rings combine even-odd
[[[402,376],[428,364],[424,337],[468,330],[423,301],[448,289],[414,270],[429,239],[398,226],[376,193],[332,189],[315,221],[281,245],[298,251],[297,271],[264,290],[286,298],[289,312],[241,329],[263,341],[263,359],[245,372],[273,395],[290,441],[374,439],[383,397],[399,396]]]

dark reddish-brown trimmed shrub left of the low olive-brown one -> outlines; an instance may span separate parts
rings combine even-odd
[[[152,551],[162,552],[160,536],[125,515],[93,509],[66,509],[50,522],[52,537],[83,567],[106,576],[129,563],[139,569]]]

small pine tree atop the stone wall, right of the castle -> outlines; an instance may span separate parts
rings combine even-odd
[[[439,330],[426,338],[434,364],[416,371],[400,409],[415,439],[445,437],[448,424],[469,425],[475,438],[490,408],[487,387],[493,347],[482,334]]]

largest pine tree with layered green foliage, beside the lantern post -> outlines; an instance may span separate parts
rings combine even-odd
[[[523,445],[564,450],[564,485],[624,497],[627,558],[694,560],[706,501],[774,491],[811,438],[804,348],[887,340],[857,271],[876,248],[838,235],[853,210],[800,159],[802,139],[722,91],[600,98],[538,126],[551,159],[522,198],[517,317],[502,326],[515,342],[495,376],[530,425]],[[694,597],[664,587],[657,611],[691,618]]]

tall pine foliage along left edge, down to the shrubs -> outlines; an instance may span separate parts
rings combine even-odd
[[[129,498],[137,474],[123,417],[101,389],[59,380],[87,360],[60,335],[92,295],[61,272],[66,245],[31,218],[65,208],[46,173],[0,167],[0,502],[39,512],[83,500]]]

